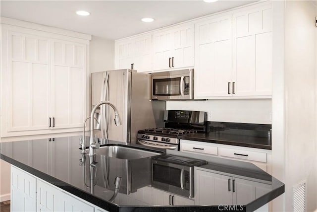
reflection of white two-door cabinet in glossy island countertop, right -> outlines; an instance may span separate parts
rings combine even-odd
[[[196,205],[246,205],[269,191],[271,185],[195,169]],[[267,211],[267,205],[260,211]]]

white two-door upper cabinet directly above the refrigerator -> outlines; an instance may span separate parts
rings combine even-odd
[[[152,35],[116,41],[115,69],[152,71]]]

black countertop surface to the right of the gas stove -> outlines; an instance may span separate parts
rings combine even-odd
[[[252,148],[272,149],[270,139],[264,137],[255,137],[247,135],[227,134],[225,132],[211,133],[195,133],[184,136],[179,136],[179,139],[202,141],[209,143],[220,143],[226,145],[245,146]]]

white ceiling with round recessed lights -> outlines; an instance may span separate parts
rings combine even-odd
[[[0,15],[107,39],[119,39],[255,0],[0,0]],[[79,16],[76,10],[91,12]],[[140,19],[153,17],[152,23]]]

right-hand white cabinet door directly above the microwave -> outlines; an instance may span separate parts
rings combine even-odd
[[[194,24],[188,24],[172,30],[174,43],[172,68],[194,66]]]

